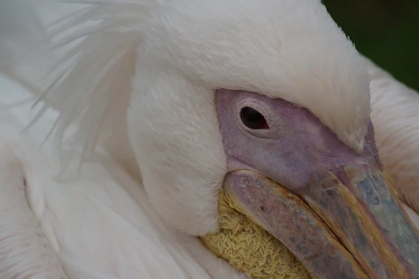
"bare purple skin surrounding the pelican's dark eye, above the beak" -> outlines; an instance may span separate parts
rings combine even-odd
[[[378,155],[371,121],[365,149],[357,155],[309,110],[285,100],[220,89],[216,102],[230,171],[255,170],[295,190],[315,174],[348,163],[367,164]],[[240,109],[246,106],[263,114],[270,129],[244,127]]]

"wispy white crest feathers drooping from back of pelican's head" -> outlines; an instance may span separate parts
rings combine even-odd
[[[52,2],[2,1],[0,72],[36,91],[41,109],[29,127],[48,107],[59,111],[52,130],[61,159],[64,133],[77,123],[71,144],[81,146],[82,163],[124,118],[143,24],[159,1]],[[56,18],[45,23],[48,16]]]

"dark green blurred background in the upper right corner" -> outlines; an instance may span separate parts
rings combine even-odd
[[[419,90],[419,0],[323,0],[358,51]]]

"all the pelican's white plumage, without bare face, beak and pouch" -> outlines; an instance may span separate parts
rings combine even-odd
[[[47,30],[52,45],[64,47],[35,47],[45,30],[26,1],[0,4],[0,35],[8,38],[0,43],[3,105],[47,89],[36,106],[42,114],[32,103],[1,112],[0,278],[247,278],[191,236],[217,226],[226,172],[211,105],[218,87],[258,89],[308,107],[342,142],[362,149],[368,68],[381,157],[418,210],[419,98],[369,61],[366,67],[319,1],[64,4],[78,14],[41,2],[46,22],[70,14]],[[17,20],[23,12],[27,20]],[[67,45],[73,39],[80,42]],[[10,63],[16,53],[29,56]],[[50,72],[54,66],[61,68]],[[54,125],[56,137],[38,150]]]

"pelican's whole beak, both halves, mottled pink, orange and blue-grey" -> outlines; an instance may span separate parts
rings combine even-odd
[[[230,172],[223,188],[317,278],[419,278],[418,232],[375,159],[292,191],[249,170]]]

